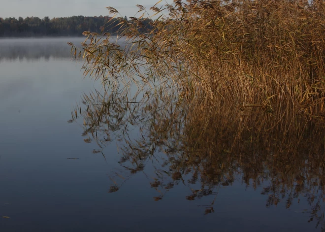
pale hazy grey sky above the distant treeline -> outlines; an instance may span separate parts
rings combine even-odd
[[[123,16],[134,16],[136,4],[150,6],[158,0],[0,0],[0,17],[25,18],[35,16],[65,17],[73,15],[108,15],[107,6],[116,8]],[[162,0],[160,5],[172,0]]]

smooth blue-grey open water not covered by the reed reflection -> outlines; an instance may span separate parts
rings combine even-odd
[[[322,218],[310,221],[314,203],[307,195],[290,207],[286,199],[268,205],[270,194],[261,193],[269,181],[248,186],[239,169],[230,184],[191,200],[204,186],[189,184],[185,169],[171,174],[166,150],[142,159],[136,153],[138,160],[129,154],[124,165],[122,138],[136,143],[141,122],[130,125],[128,136],[102,125],[113,133],[99,142],[95,129],[84,133],[84,119],[71,111],[76,105],[84,111],[83,95],[101,85],[83,78],[69,41],[82,38],[0,40],[1,232],[322,231]]]

